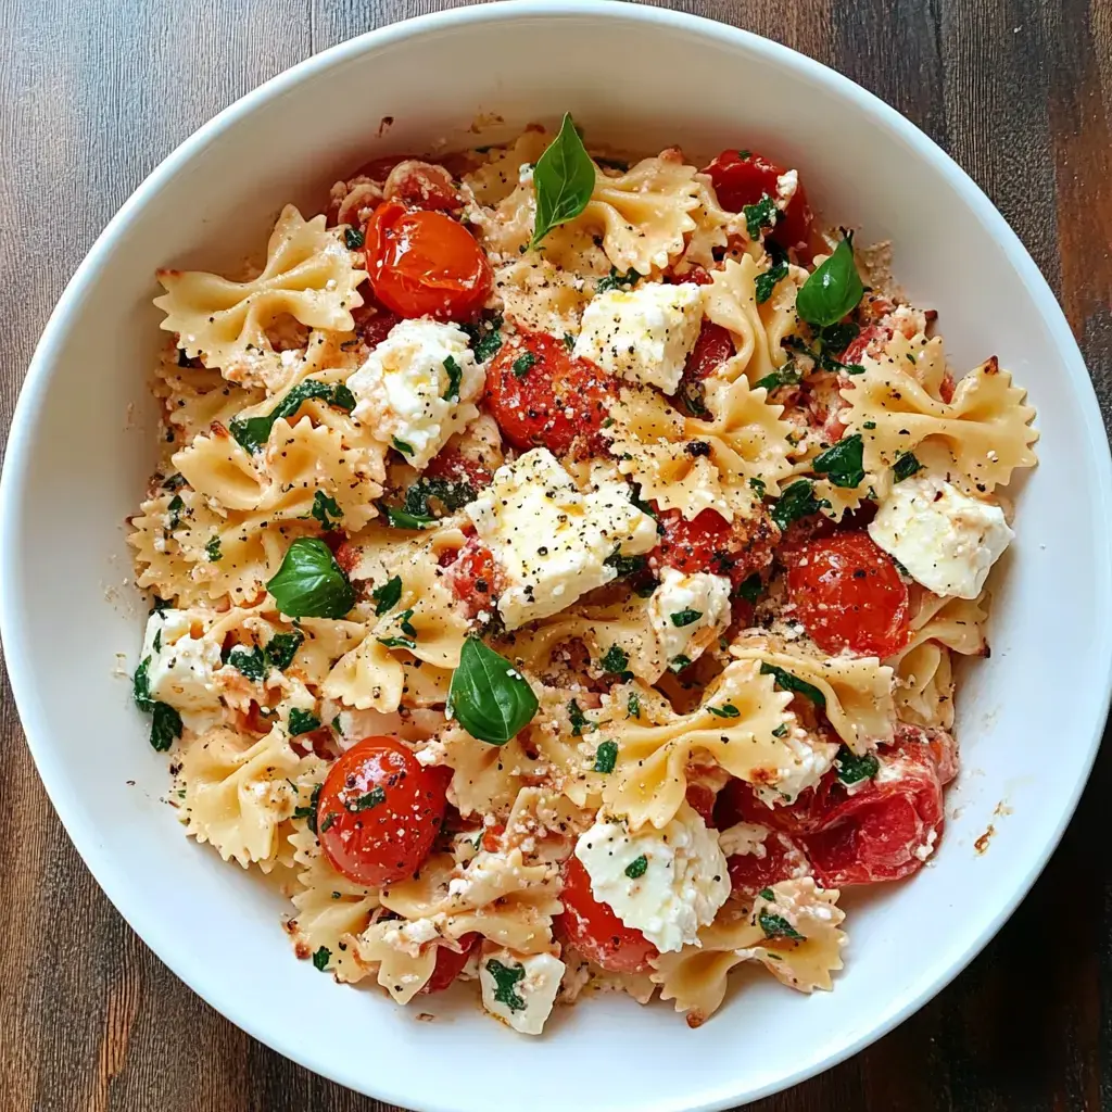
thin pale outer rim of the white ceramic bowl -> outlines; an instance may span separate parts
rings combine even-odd
[[[320,1073],[358,1092],[368,1093],[379,1100],[401,1106],[408,1106],[404,1084],[398,1084],[389,1079],[376,1078],[371,1092],[367,1084],[367,1078],[359,1075],[355,1068],[337,1069],[332,1063],[316,1061],[311,1053],[305,1051],[294,1037],[284,1035],[280,1029],[264,1027],[258,1017],[252,1015],[249,1009],[245,1010],[225,986],[214,981],[206,982],[200,972],[202,966],[186,962],[180,946],[175,941],[175,932],[166,927],[158,915],[153,913],[153,909],[145,905],[141,893],[129,885],[125,880],[125,874],[116,867],[115,857],[99,845],[95,830],[80,817],[80,808],[73,797],[71,786],[67,783],[64,768],[51,753],[52,746],[47,731],[38,722],[34,698],[36,677],[28,663],[28,654],[22,652],[24,645],[21,629],[9,616],[11,612],[6,605],[7,600],[13,598],[18,590],[16,572],[9,553],[14,549],[18,542],[17,494],[27,481],[32,431],[38,414],[44,404],[50,369],[66,335],[68,320],[96,281],[102,261],[111,251],[113,241],[128,225],[132,214],[141,208],[149,198],[157,195],[165,182],[178,173],[218,136],[235,126],[241,118],[250,116],[256,107],[284,96],[317,73],[356,59],[369,50],[416,38],[430,31],[450,29],[466,23],[519,20],[532,17],[573,17],[579,19],[588,17],[616,22],[658,24],[695,32],[751,52],[763,53],[778,64],[807,75],[817,82],[838,91],[852,100],[862,112],[870,116],[880,126],[894,132],[925,159],[933,162],[940,172],[949,179],[950,185],[962,201],[1003,248],[1059,345],[1062,365],[1068,377],[1074,380],[1073,385],[1083,408],[1083,427],[1079,429],[1079,434],[1088,441],[1093,460],[1099,464],[1090,471],[1088,485],[1093,500],[1103,506],[1105,510],[1096,518],[1099,524],[1095,526],[1098,530],[1095,540],[1098,547],[1103,548],[1108,554],[1108,563],[1112,564],[1112,525],[1109,524],[1112,519],[1112,513],[1110,513],[1112,510],[1112,455],[1109,451],[1108,436],[1100,415],[1095,389],[1085,369],[1073,332],[1046,279],[992,201],[942,148],[878,97],[806,54],[727,23],[719,23],[683,11],[628,3],[624,0],[516,0],[513,4],[481,3],[401,20],[337,43],[270,78],[222,109],[211,120],[201,125],[147,175],[97,237],[89,252],[68,281],[36,346],[16,404],[4,454],[3,470],[0,474],[0,638],[2,638],[7,649],[4,656],[8,674],[28,748],[50,802],[97,884],[128,924],[158,959],[191,991],[249,1035],[312,1072]],[[1104,636],[1103,644],[1090,647],[1090,651],[1095,648],[1098,656],[1104,658],[1104,688],[1103,691],[1092,691],[1089,695],[1088,717],[1091,721],[1091,728],[1086,739],[1088,751],[1079,764],[1079,774],[1065,800],[1065,806],[1062,808],[1051,835],[1031,860],[1011,896],[996,910],[987,924],[967,940],[959,959],[940,970],[932,981],[925,983],[920,992],[902,1006],[891,1009],[887,1013],[882,1010],[876,1022],[871,1024],[867,1031],[825,1056],[803,1064],[795,1072],[756,1090],[745,1090],[742,1079],[738,1078],[737,1082],[732,1083],[733,1088],[728,1090],[719,1086],[716,1090],[692,1094],[692,1099],[686,1100],[682,1105],[684,1112],[714,1112],[714,1110],[731,1106],[738,1100],[758,1100],[837,1065],[883,1037],[919,1011],[949,985],[987,945],[1026,896],[1045,867],[1051,854],[1061,841],[1065,827],[1073,817],[1081,793],[1092,771],[1104,731],[1110,697],[1112,697],[1112,628],[1110,628],[1112,623],[1105,623],[1104,627],[1110,629],[1110,633]],[[646,1112],[648,1112],[648,1108],[646,1105]],[[653,1112],[679,1112],[681,1110],[679,1104],[671,1101],[653,1104],[651,1108]],[[443,1099],[433,1103],[426,1102],[424,1112],[464,1112],[464,1106],[455,1103],[450,1095],[445,1093]]]

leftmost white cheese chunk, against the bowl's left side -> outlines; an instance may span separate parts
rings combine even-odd
[[[203,633],[192,636],[187,610],[156,610],[147,619],[140,663],[147,665],[150,697],[181,715],[198,733],[215,725],[224,709],[216,671],[221,666],[220,645]]]

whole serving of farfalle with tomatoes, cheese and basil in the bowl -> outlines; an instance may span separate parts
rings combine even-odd
[[[1024,391],[742,147],[566,117],[320,201],[158,274],[133,693],[186,834],[401,1005],[830,990],[842,890],[944,833]]]

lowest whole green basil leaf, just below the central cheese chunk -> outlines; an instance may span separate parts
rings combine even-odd
[[[474,635],[464,642],[448,702],[464,729],[490,745],[505,745],[533,721],[538,707],[528,681]]]

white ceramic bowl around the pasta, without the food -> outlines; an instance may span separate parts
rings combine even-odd
[[[286,200],[316,211],[376,151],[464,145],[477,110],[505,117],[492,138],[570,110],[592,138],[623,147],[737,145],[798,166],[831,219],[860,226],[862,241],[893,240],[896,272],[939,309],[954,365],[995,353],[1039,407],[1042,464],[1020,492],[992,658],[960,693],[964,771],[946,836],[910,883],[850,895],[846,969],[831,994],[741,977],[697,1031],[666,1005],[607,996],[558,1012],[537,1040],[463,1001],[417,1022],[418,1009],[295,961],[277,897],[188,842],[160,802],[166,762],[120,675],[145,614],[128,587],[123,518],[155,458],[155,268],[232,261],[265,241]],[[1108,445],[1078,348],[1020,241],[937,147],[846,79],[742,31],[635,4],[523,2],[399,23],[311,58],[201,128],[66,290],[19,400],[0,494],[8,667],[42,780],[93,875],[235,1023],[346,1085],[429,1112],[721,1109],[861,1049],[953,977],[1027,891],[1108,707]],[[989,823],[981,856],[973,843]]]

